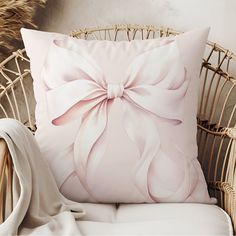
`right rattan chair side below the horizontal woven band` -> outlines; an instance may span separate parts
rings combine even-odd
[[[208,120],[198,119],[198,128],[203,141],[199,141],[201,152],[199,161],[204,170],[212,197],[218,201],[231,217],[236,233],[236,128],[220,127]]]

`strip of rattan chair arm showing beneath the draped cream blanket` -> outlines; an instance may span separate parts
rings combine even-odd
[[[0,224],[13,210],[13,164],[4,139],[0,139]]]

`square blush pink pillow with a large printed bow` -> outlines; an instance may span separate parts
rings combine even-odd
[[[197,161],[198,75],[208,29],[131,42],[22,30],[36,139],[81,202],[212,203]]]

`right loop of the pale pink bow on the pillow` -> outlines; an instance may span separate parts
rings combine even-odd
[[[189,85],[176,42],[137,56],[127,70],[126,98],[172,124],[183,121]]]

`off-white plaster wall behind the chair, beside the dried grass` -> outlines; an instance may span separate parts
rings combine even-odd
[[[180,31],[210,26],[209,39],[236,52],[236,0],[48,0],[37,17],[40,29],[135,23]]]

